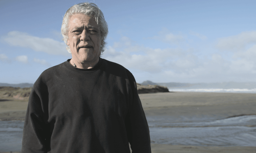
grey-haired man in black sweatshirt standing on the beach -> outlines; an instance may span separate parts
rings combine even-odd
[[[136,81],[100,58],[108,26],[93,3],[70,7],[61,27],[72,58],[36,80],[22,153],[149,153],[150,137]]]

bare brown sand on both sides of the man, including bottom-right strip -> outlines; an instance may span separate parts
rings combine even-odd
[[[256,114],[256,94],[170,92],[139,94],[146,116],[219,116]],[[26,100],[0,99],[0,119],[24,120]],[[256,153],[256,147],[179,146],[151,144],[152,153]]]

